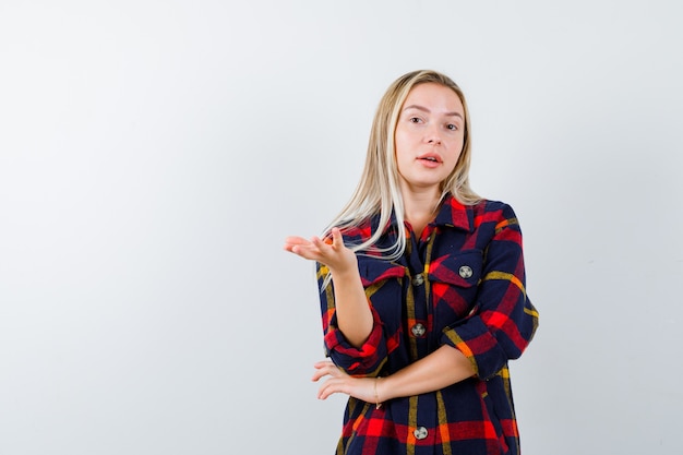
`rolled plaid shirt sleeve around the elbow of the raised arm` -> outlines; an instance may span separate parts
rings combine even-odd
[[[373,326],[368,340],[355,347],[344,336],[337,326],[337,316],[334,300],[334,283],[323,286],[327,267],[317,264],[317,282],[321,290],[321,310],[323,316],[323,333],[325,342],[325,355],[348,374],[351,375],[376,375],[386,361],[387,348],[383,334],[383,325],[378,312],[372,306]]]

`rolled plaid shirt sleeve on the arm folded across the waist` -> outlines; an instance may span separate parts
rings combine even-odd
[[[470,315],[446,327],[442,344],[459,349],[480,379],[518,358],[538,327],[538,312],[526,294],[522,231],[508,205],[484,250],[482,278]]]

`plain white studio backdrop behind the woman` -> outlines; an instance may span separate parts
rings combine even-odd
[[[332,454],[313,265],[374,109],[434,69],[513,205],[526,455],[680,451],[676,1],[0,3],[0,454]]]

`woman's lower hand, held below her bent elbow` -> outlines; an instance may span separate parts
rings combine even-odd
[[[329,376],[317,390],[317,398],[325,399],[332,394],[343,393],[368,403],[379,403],[381,392],[375,388],[381,384],[376,378],[354,378],[328,360],[316,362],[312,380]],[[380,381],[380,382],[378,382]],[[376,384],[375,384],[376,383]]]

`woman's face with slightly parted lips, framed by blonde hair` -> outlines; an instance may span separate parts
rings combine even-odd
[[[394,140],[402,190],[439,191],[463,151],[463,103],[453,89],[430,82],[412,87],[400,109]]]

